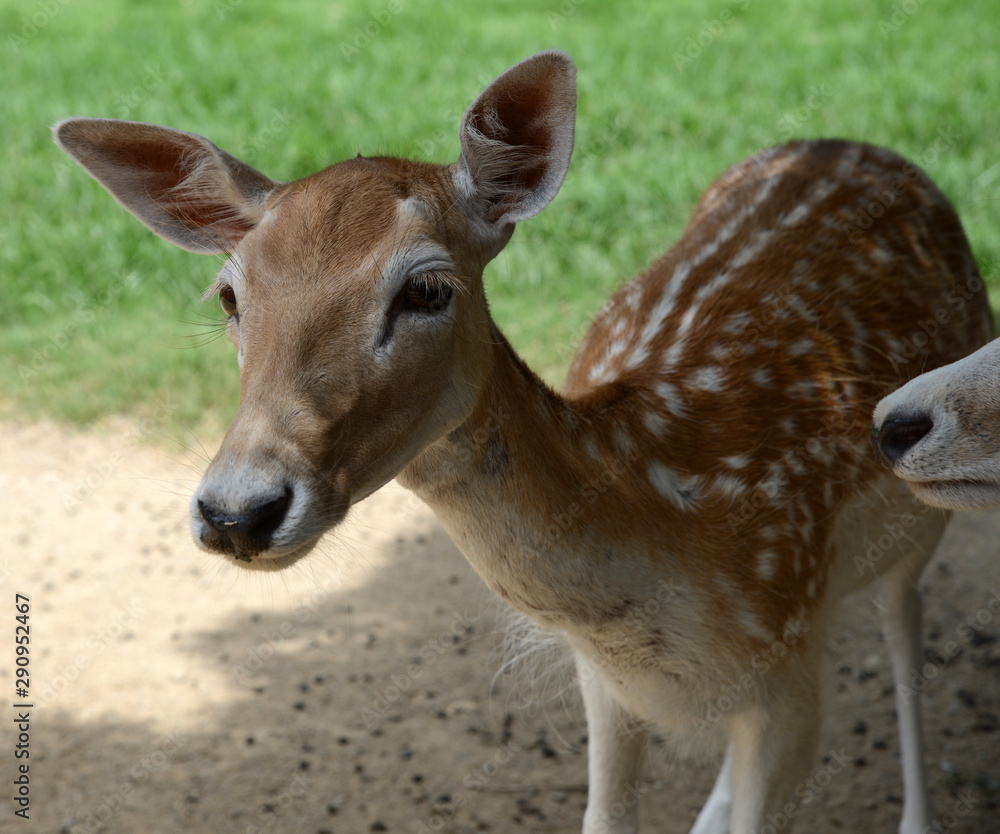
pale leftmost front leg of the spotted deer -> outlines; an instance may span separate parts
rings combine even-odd
[[[599,673],[580,656],[577,672],[589,739],[583,834],[636,834],[648,731],[621,707]]]

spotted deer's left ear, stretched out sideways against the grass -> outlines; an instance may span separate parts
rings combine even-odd
[[[231,252],[279,185],[201,136],[158,125],[66,119],[52,134],[126,209],[190,252]]]

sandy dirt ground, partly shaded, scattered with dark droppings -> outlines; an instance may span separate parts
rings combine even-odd
[[[507,615],[429,510],[392,484],[301,567],[239,573],[190,540],[203,450],[140,433],[0,425],[0,831],[580,830],[572,685],[549,661],[500,672]],[[998,541],[1000,515],[962,516],[924,575],[935,831],[1000,831]],[[31,606],[28,760],[14,758],[15,593]],[[898,824],[872,597],[849,601],[827,649],[799,831]],[[24,761],[27,821],[12,801]],[[687,831],[717,766],[655,741],[643,830]]]

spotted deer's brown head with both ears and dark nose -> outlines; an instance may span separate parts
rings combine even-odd
[[[240,406],[191,501],[202,547],[284,568],[461,426],[492,357],[483,268],[559,190],[575,108],[572,62],[543,52],[469,107],[454,164],[358,156],[290,183],[191,133],[55,126],[156,234],[229,256],[209,294]]]

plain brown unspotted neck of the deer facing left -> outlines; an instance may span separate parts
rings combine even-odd
[[[621,506],[629,450],[609,454],[613,418],[555,394],[493,330],[476,406],[399,481],[435,511],[498,595],[565,626],[595,613],[595,589],[581,578],[607,559],[601,542],[611,531],[603,528],[621,515],[613,508]],[[608,605],[620,607],[606,590]]]

